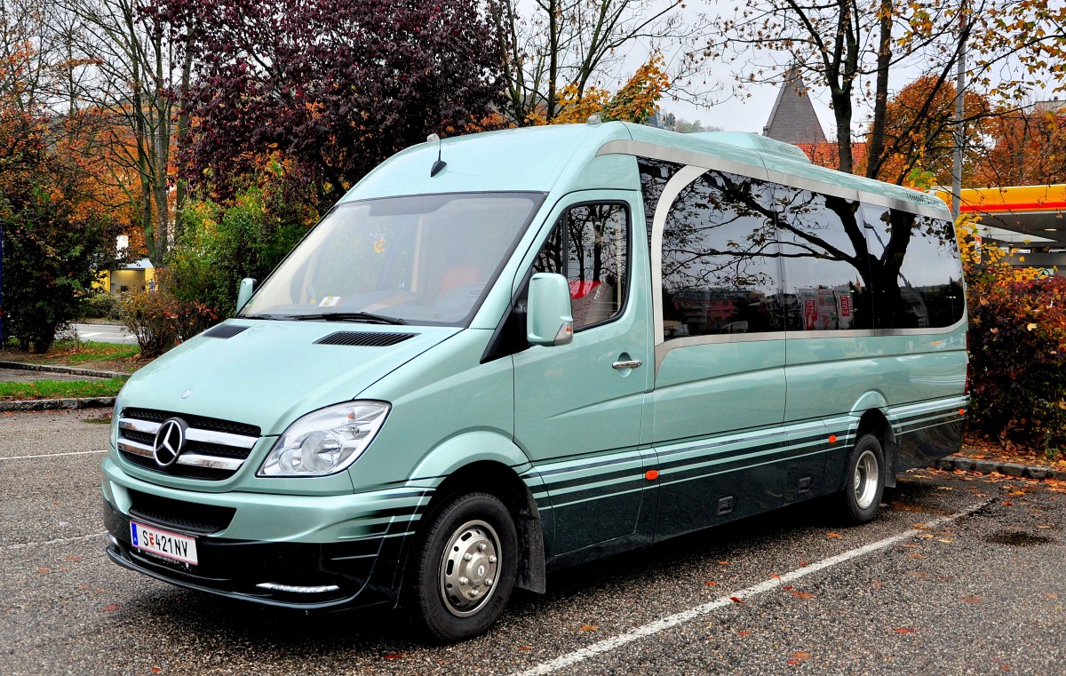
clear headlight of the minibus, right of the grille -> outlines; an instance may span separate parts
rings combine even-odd
[[[353,401],[296,420],[271,449],[260,477],[322,477],[338,472],[367,450],[385,422],[389,405]]]

